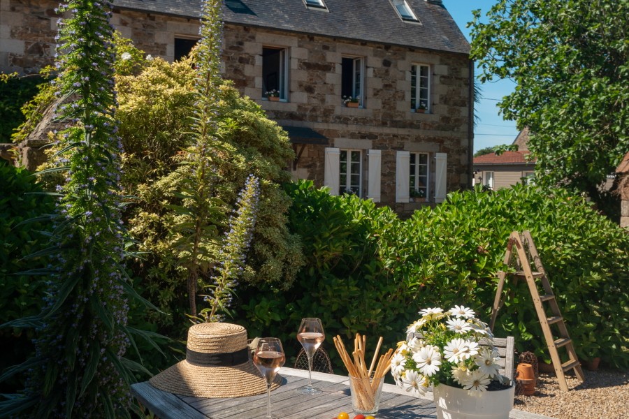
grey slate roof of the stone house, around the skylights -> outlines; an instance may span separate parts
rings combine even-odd
[[[224,22],[387,45],[469,54],[470,45],[439,0],[407,0],[420,24],[400,19],[389,0],[224,0]],[[118,8],[196,18],[201,0],[114,0]]]

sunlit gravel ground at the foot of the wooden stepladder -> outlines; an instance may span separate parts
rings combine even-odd
[[[540,373],[535,395],[516,395],[514,408],[555,419],[628,419],[629,372],[584,369],[586,381],[567,376],[563,392],[555,374]]]

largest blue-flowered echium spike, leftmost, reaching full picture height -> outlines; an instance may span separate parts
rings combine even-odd
[[[57,186],[57,210],[50,218],[51,254],[45,302],[38,316],[6,323],[34,327],[33,358],[3,378],[27,372],[24,392],[2,402],[0,416],[29,418],[122,418],[129,416],[131,369],[123,358],[131,340],[126,330],[127,301],[133,293],[120,265],[123,226],[120,213],[122,151],[113,118],[114,52],[109,1],[71,0],[59,13],[57,95],[66,105],[57,117],[55,168],[66,171]],[[43,172],[41,172],[43,173]]]

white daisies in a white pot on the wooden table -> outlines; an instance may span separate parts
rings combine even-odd
[[[515,387],[498,373],[493,335],[472,309],[428,308],[391,359],[396,384],[423,396],[433,386],[438,418],[509,418]]]

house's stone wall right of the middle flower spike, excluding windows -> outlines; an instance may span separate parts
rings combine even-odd
[[[225,75],[284,126],[306,126],[329,139],[329,147],[382,150],[382,203],[406,212],[417,203],[395,203],[396,151],[448,154],[447,190],[466,188],[468,177],[468,59],[461,55],[390,45],[286,34],[226,25]],[[263,98],[262,47],[286,47],[286,102]],[[347,108],[341,96],[341,58],[366,57],[364,108]],[[431,113],[410,110],[410,66],[431,65]],[[301,146],[298,146],[301,147]],[[294,177],[323,184],[324,145],[308,145]],[[471,150],[469,150],[471,152]],[[363,153],[363,168],[367,156]],[[433,170],[434,170],[434,166]],[[363,170],[363,179],[366,170]],[[434,182],[434,179],[433,179]],[[363,182],[366,185],[366,182]],[[434,184],[432,185],[434,186]],[[434,187],[430,188],[434,191]],[[366,186],[363,186],[366,196]]]

